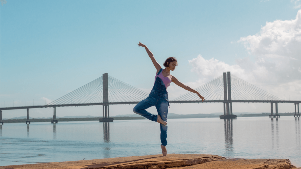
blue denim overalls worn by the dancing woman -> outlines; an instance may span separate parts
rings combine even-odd
[[[159,75],[163,69],[161,68],[157,75]],[[168,114],[168,94],[166,91],[165,84],[163,81],[157,76],[155,84],[153,89],[151,90],[151,93],[149,96],[139,102],[133,109],[134,113],[138,115],[142,115],[143,117],[151,120],[151,121],[157,121],[158,117],[156,115],[151,114],[150,112],[147,112],[145,109],[156,106],[158,115],[162,118],[162,120],[167,122],[167,114]],[[167,125],[160,123],[160,130],[161,130],[161,143],[162,146],[167,145]]]

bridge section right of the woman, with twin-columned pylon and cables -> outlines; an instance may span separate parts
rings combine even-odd
[[[299,114],[299,103],[301,101],[282,100],[247,81],[224,72],[223,75],[209,81],[206,84],[194,89],[205,97],[203,103],[224,103],[224,115],[221,118],[236,118],[232,112],[232,103],[271,103],[270,117],[280,117],[278,114],[278,103],[294,103],[295,115]],[[202,103],[202,100],[194,93],[188,92],[170,103]],[[275,103],[275,113],[273,104]],[[296,105],[298,114],[296,114]]]

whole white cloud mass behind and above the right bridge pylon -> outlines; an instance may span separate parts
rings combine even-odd
[[[259,33],[241,37],[238,42],[244,44],[255,61],[246,57],[229,65],[199,55],[189,60],[192,71],[199,75],[199,83],[230,71],[277,97],[301,99],[301,10],[296,19],[267,22]]]

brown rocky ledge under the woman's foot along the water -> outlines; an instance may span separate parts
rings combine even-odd
[[[144,155],[97,160],[65,161],[40,164],[1,166],[0,169],[53,168],[53,169],[288,169],[296,168],[288,159],[226,159],[218,155],[168,154]],[[298,169],[301,169],[298,168]]]

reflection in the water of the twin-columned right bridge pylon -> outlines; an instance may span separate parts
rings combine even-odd
[[[224,119],[225,150],[228,158],[233,158],[233,119]]]

